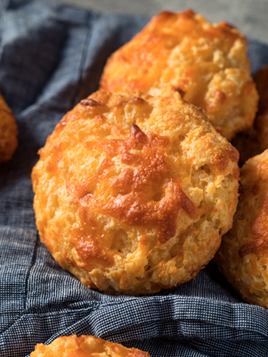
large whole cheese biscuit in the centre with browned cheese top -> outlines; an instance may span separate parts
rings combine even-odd
[[[106,293],[194,278],[231,228],[238,152],[195,106],[96,92],[61,120],[32,173],[54,259]]]

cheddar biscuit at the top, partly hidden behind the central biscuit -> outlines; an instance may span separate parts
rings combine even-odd
[[[246,38],[226,22],[211,24],[191,10],[160,12],[108,60],[101,88],[178,91],[201,107],[223,137],[250,129],[258,95],[250,78]]]

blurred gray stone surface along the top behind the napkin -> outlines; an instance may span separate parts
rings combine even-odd
[[[246,36],[268,43],[268,0],[58,0],[101,12],[128,12],[151,17],[161,10],[192,8],[208,21],[228,21]]]

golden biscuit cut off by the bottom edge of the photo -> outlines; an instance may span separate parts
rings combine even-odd
[[[150,357],[136,348],[102,340],[95,336],[63,336],[50,345],[38,344],[30,357]]]

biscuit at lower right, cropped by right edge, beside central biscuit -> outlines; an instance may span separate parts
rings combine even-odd
[[[238,210],[216,262],[244,300],[268,308],[268,150],[245,163],[240,182]]]

